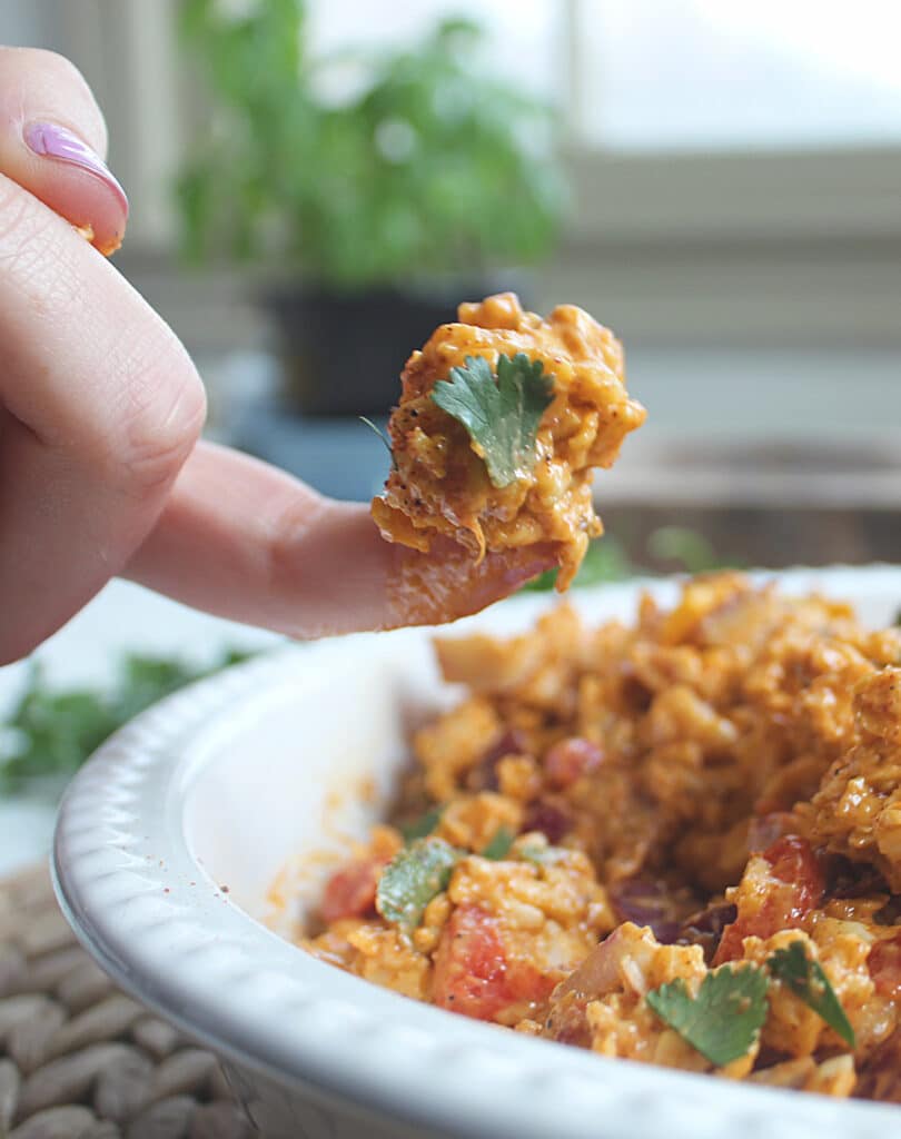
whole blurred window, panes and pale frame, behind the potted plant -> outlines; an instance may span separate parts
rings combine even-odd
[[[132,190],[123,265],[174,244],[191,120],[178,2],[0,10],[0,42],[64,50],[97,90]],[[576,208],[539,302],[578,297],[632,342],[901,344],[896,0],[309,2],[323,51],[475,15],[492,66],[560,107]]]

